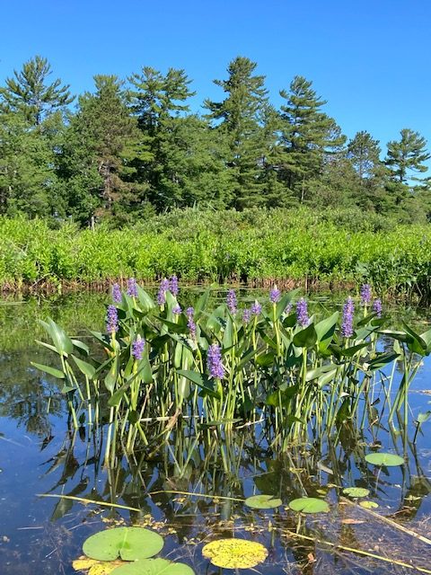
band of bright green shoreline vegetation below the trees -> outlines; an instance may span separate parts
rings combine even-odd
[[[136,226],[81,229],[74,223],[0,218],[4,293],[106,289],[136,277],[152,284],[268,288],[358,288],[380,296],[431,294],[431,229],[360,210],[187,208]]]

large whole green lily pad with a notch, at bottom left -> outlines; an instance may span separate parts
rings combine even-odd
[[[163,537],[143,527],[116,527],[91,535],[84,541],[87,557],[100,561],[136,561],[153,557],[163,548]]]

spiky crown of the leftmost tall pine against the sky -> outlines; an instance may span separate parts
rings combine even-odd
[[[40,126],[50,114],[74,100],[69,86],[62,85],[59,78],[48,83],[50,74],[46,58],[32,57],[20,72],[13,71],[14,77],[6,78],[6,85],[0,88],[0,107],[22,113],[32,126]]]

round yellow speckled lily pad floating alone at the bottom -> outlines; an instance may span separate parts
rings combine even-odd
[[[224,569],[251,569],[268,557],[262,544],[246,539],[218,539],[204,546],[204,557],[216,567]]]

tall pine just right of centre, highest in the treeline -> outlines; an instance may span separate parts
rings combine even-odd
[[[268,155],[264,116],[268,107],[265,76],[255,75],[257,64],[236,57],[228,66],[227,80],[215,80],[226,94],[223,102],[206,100],[207,119],[225,138],[225,164],[230,173],[235,208],[265,202],[263,163]]]

